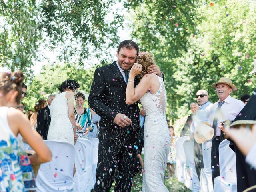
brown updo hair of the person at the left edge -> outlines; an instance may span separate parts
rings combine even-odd
[[[16,97],[17,104],[20,103],[22,94],[22,82],[25,76],[21,71],[17,72],[2,72],[0,73],[0,95],[6,95],[11,90],[18,91],[18,96]]]

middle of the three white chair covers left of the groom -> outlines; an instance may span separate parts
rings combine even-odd
[[[75,152],[76,173],[74,182],[77,192],[90,192],[94,188],[92,175],[92,143],[88,139],[78,139]]]

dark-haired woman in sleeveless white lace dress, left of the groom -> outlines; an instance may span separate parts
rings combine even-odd
[[[76,128],[82,127],[76,124],[74,112],[74,91],[80,85],[74,80],[64,81],[50,107],[51,122],[47,138],[48,140],[68,141],[72,144],[77,140]]]

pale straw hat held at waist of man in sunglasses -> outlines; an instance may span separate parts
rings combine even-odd
[[[213,136],[214,129],[208,122],[200,123],[194,131],[194,138],[199,144],[205,142],[206,140],[212,139]]]

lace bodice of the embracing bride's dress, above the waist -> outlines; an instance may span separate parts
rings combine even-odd
[[[157,75],[156,75],[157,76]],[[147,111],[147,114],[162,114],[166,113],[166,91],[164,81],[161,77],[157,76],[159,80],[159,90],[155,94],[146,92],[140,102]]]

